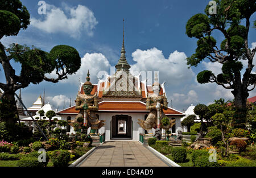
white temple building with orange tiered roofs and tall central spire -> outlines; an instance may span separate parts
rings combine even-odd
[[[146,99],[148,94],[153,93],[152,86],[147,84],[147,80],[141,81],[140,74],[133,76],[130,73],[130,64],[127,63],[125,53],[123,35],[121,57],[115,65],[115,73],[106,77],[105,81],[99,79],[97,84],[93,84],[93,90],[90,93],[92,95],[97,93],[97,117],[100,120],[105,120],[105,125],[98,129],[98,133],[105,133],[106,141],[113,139],[139,140],[139,134],[144,130],[138,124],[138,119],[144,121],[150,113],[150,110],[146,110]],[[82,85],[80,84],[78,92],[84,94]],[[167,96],[164,83],[161,85],[160,94]],[[71,106],[56,114],[69,121],[74,120],[78,113],[79,110],[76,110],[75,106]],[[164,110],[164,114],[168,118],[176,120],[171,131],[173,134],[177,134],[177,131],[181,130],[180,119],[185,114],[171,107]],[[75,133],[71,126],[68,126],[67,131]]]

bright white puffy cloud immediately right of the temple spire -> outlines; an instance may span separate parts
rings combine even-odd
[[[141,71],[159,71],[159,81],[166,81],[166,85],[182,85],[195,77],[192,69],[188,69],[184,52],[174,51],[168,59],[157,48],[142,51],[137,49],[132,53],[133,60],[137,63],[131,65],[131,73]]]

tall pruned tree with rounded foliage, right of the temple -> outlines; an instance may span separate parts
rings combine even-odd
[[[246,110],[246,100],[256,85],[256,74],[253,74],[253,57],[256,47],[248,46],[248,34],[254,24],[250,17],[255,13],[254,0],[214,0],[217,3],[217,14],[209,14],[210,6],[205,14],[193,15],[187,22],[186,34],[189,38],[197,38],[195,53],[187,58],[189,67],[197,67],[203,60],[222,64],[222,73],[202,71],[197,74],[200,84],[215,82],[225,89],[232,89],[234,105],[238,110]],[[245,21],[245,26],[242,21]],[[216,41],[213,35],[218,31],[224,36],[222,42]],[[220,45],[217,45],[220,44]],[[245,73],[242,60],[247,61]]]

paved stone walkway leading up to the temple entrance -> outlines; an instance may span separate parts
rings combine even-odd
[[[111,141],[99,146],[80,167],[167,167],[139,142]]]

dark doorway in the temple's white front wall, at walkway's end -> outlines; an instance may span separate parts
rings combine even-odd
[[[111,121],[110,139],[132,139],[132,125],[129,115],[114,115]]]

